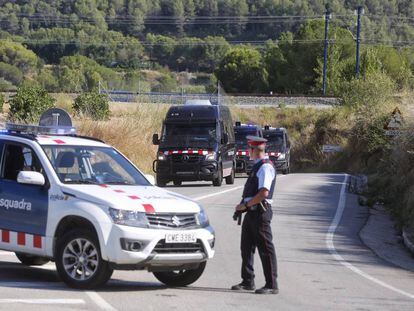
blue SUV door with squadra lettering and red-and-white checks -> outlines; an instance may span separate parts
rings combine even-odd
[[[0,141],[0,248],[42,254],[48,213],[48,187],[17,182],[20,171],[47,176],[34,150],[25,144]]]

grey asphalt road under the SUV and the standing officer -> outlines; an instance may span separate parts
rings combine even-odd
[[[240,281],[240,227],[232,221],[244,178],[170,190],[198,200],[216,229],[216,256],[187,288],[170,289],[148,272],[117,271],[98,291],[65,287],[54,265],[27,268],[0,253],[0,309],[19,310],[414,310],[414,273],[376,257],[358,232],[367,211],[345,191],[345,175],[278,176],[272,223],[279,295],[235,293]],[[264,285],[256,254],[256,285]]]

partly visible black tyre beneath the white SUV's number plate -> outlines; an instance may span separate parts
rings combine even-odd
[[[203,274],[205,268],[206,262],[204,261],[200,263],[197,269],[154,272],[154,276],[158,279],[158,281],[167,286],[181,287],[190,285],[197,281]]]

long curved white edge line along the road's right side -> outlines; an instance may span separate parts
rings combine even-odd
[[[360,276],[362,276],[363,278],[376,283],[377,285],[380,285],[382,287],[385,287],[389,290],[392,290],[398,294],[401,294],[403,296],[406,296],[408,298],[414,299],[414,295],[407,293],[401,289],[398,289],[392,285],[389,285],[381,280],[378,280],[377,278],[374,278],[373,276],[369,275],[368,273],[365,273],[364,271],[361,271],[360,269],[358,269],[357,267],[355,267],[354,265],[350,264],[349,262],[347,262],[341,255],[338,254],[338,252],[335,249],[335,245],[333,242],[334,239],[334,235],[335,235],[335,231],[338,228],[339,223],[341,222],[341,218],[345,209],[345,205],[346,205],[346,187],[347,187],[347,183],[348,183],[348,174],[345,174],[345,179],[342,183],[342,187],[341,187],[341,193],[339,196],[339,202],[338,202],[338,207],[336,209],[336,213],[335,213],[335,217],[332,220],[332,223],[329,227],[328,233],[326,234],[326,247],[329,250],[329,252],[331,253],[331,255],[335,258],[335,260],[337,260],[338,262],[340,262],[342,265],[344,265],[345,267],[347,267],[348,269],[352,270],[353,272],[359,274]]]

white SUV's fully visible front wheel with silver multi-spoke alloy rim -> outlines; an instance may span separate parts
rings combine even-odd
[[[75,229],[57,241],[56,269],[70,287],[91,289],[105,284],[113,273],[101,257],[98,238],[90,230]]]

